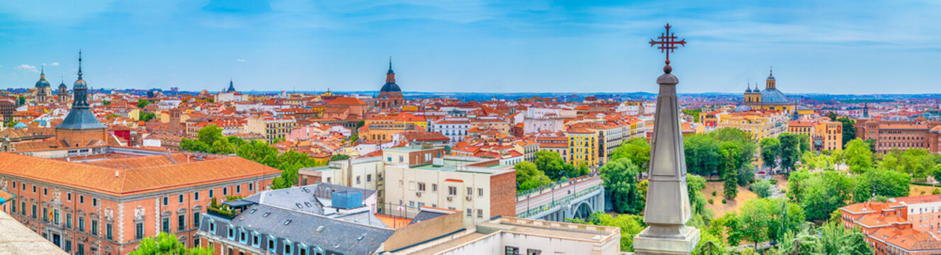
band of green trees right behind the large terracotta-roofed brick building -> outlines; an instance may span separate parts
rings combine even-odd
[[[235,154],[264,166],[278,168],[281,170],[281,176],[272,181],[271,188],[273,189],[297,184],[297,169],[299,168],[323,165],[305,153],[293,150],[279,153],[277,148],[261,140],[246,141],[236,136],[222,135],[222,129],[215,125],[200,128],[197,139],[183,138],[180,142],[180,150]]]

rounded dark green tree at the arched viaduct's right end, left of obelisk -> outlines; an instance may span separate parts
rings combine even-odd
[[[609,161],[599,169],[604,191],[611,199],[614,212],[621,214],[639,214],[644,210],[644,199],[640,199],[637,192],[637,178],[640,177],[640,167],[630,162],[630,159],[619,158]]]

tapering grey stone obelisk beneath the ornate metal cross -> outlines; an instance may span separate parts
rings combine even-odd
[[[637,254],[690,254],[699,230],[687,227],[691,217],[686,187],[686,155],[679,129],[676,75],[666,66],[657,78],[660,94],[654,119],[647,176],[644,222],[649,227],[634,236]]]

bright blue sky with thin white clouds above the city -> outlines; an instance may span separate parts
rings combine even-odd
[[[930,0],[0,1],[0,88],[656,91],[667,22],[679,92],[939,92]]]

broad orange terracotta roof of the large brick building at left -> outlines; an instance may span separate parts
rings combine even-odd
[[[280,172],[237,156],[200,157],[194,153],[107,146],[88,149],[92,152],[68,157],[66,152],[75,148],[0,153],[0,174],[129,196]]]

